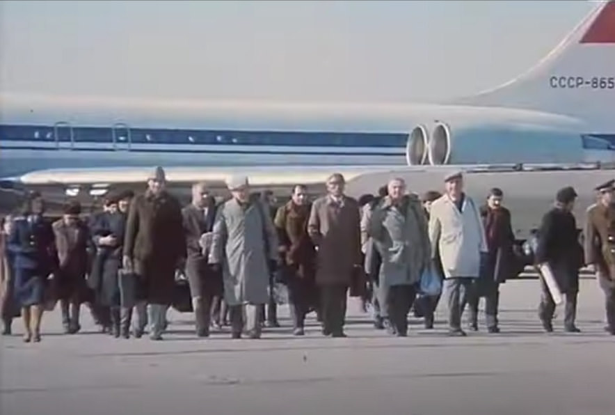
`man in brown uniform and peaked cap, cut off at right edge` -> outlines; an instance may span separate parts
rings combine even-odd
[[[596,187],[598,202],[591,205],[585,221],[585,263],[593,265],[605,292],[607,331],[615,336],[615,180]]]

